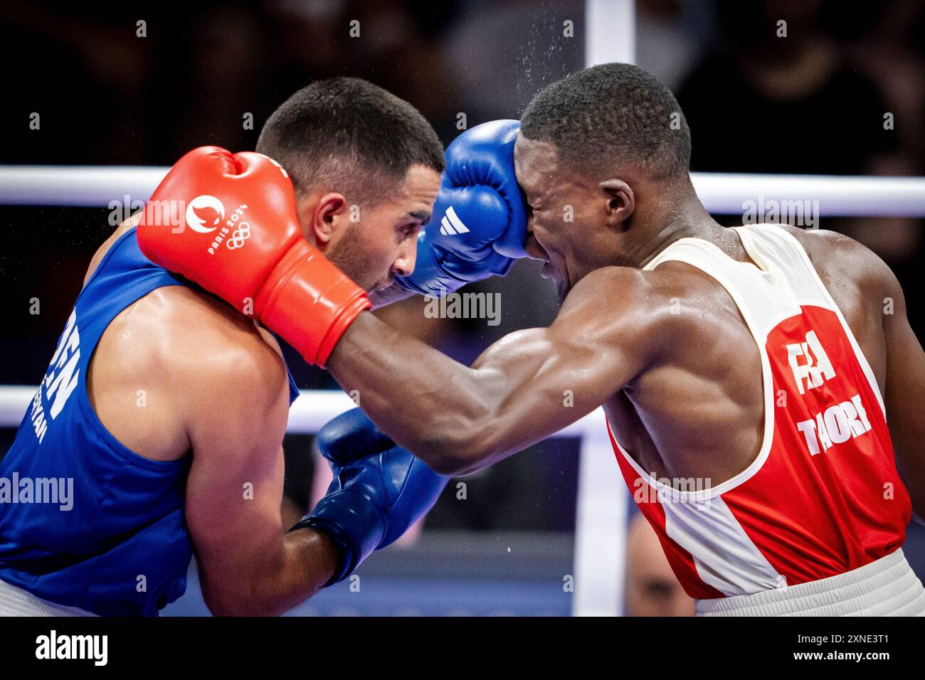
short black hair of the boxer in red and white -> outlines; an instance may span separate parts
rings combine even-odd
[[[541,90],[521,117],[524,137],[555,144],[560,162],[590,172],[639,167],[652,179],[690,169],[691,134],[672,92],[642,68],[601,64]]]

